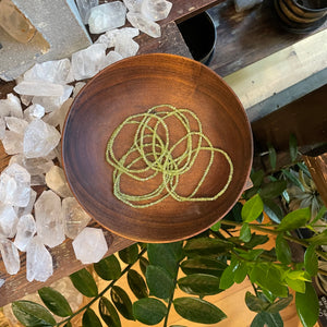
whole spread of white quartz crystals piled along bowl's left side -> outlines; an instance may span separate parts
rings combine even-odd
[[[101,229],[87,227],[90,217],[73,197],[60,167],[60,138],[73,98],[100,70],[135,56],[140,31],[159,37],[167,0],[123,0],[98,4],[77,0],[94,45],[71,58],[36,63],[16,81],[14,93],[0,99],[0,141],[11,156],[0,173],[0,253],[10,275],[20,270],[26,252],[28,281],[46,281],[53,272],[49,249],[73,239],[76,258],[98,262],[108,251]],[[132,27],[123,27],[126,20]],[[84,81],[82,81],[84,80]],[[78,82],[81,81],[81,82]],[[37,194],[35,186],[43,186]],[[40,189],[38,189],[40,190]],[[5,281],[0,279],[0,287]]]

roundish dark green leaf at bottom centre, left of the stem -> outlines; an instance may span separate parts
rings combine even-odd
[[[133,303],[133,314],[145,325],[157,325],[167,315],[167,307],[157,299],[141,299]]]

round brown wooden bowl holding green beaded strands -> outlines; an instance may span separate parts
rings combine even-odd
[[[150,207],[133,208],[113,195],[113,168],[105,156],[108,138],[131,114],[161,104],[195,112],[213,146],[230,156],[233,177],[216,201],[178,202],[169,196]],[[126,132],[120,137],[117,150],[131,146],[133,135]],[[113,233],[143,242],[183,240],[221,219],[242,194],[252,156],[251,126],[231,88],[204,64],[164,53],[128,58],[98,73],[72,104],[62,136],[66,179],[83,208]],[[195,168],[180,181],[181,193],[196,185],[206,160],[195,161]],[[218,158],[198,190],[199,195],[218,193],[228,175],[227,161]],[[149,186],[131,181],[124,187],[133,193]]]

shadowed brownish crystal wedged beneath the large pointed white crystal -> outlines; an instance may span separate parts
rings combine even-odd
[[[23,154],[12,156],[9,165],[19,164],[24,167],[31,175],[47,173],[55,165],[51,159],[47,158],[26,158]]]

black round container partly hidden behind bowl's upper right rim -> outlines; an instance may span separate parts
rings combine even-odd
[[[207,12],[203,12],[182,23],[178,27],[187,45],[193,59],[209,64],[216,46],[216,27]]]

